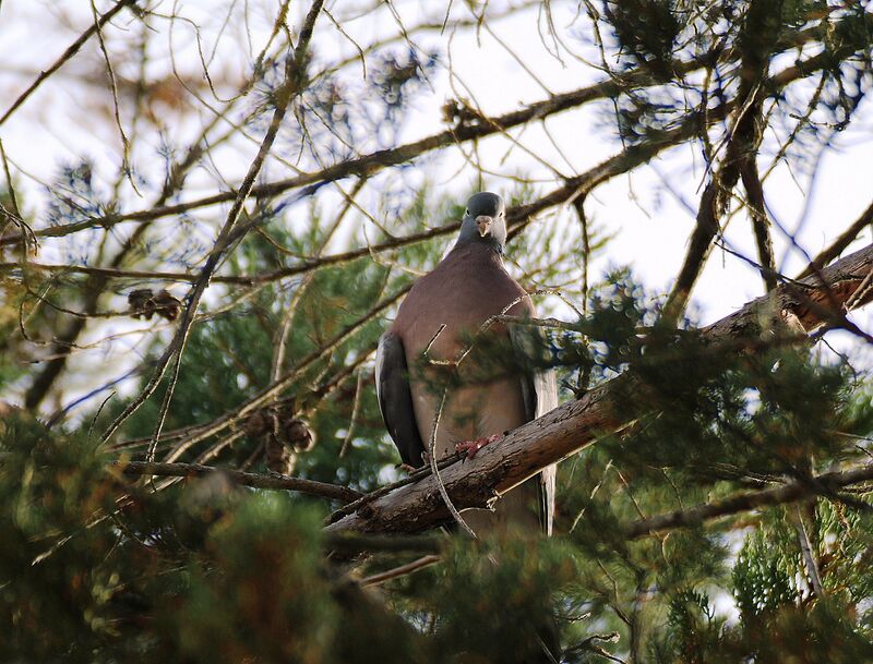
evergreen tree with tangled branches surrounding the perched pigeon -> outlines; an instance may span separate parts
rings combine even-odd
[[[873,249],[838,256],[873,208],[791,277],[765,198],[770,164],[814,176],[864,109],[870,8],[584,2],[563,29],[557,4],[449,3],[415,24],[368,5],[396,41],[343,60],[330,35],[352,39],[354,14],[279,3],[241,84],[151,80],[165,16],[146,3],[103,8],[100,31],[91,16],[93,50],[64,58],[118,59],[97,85],[117,172],[83,155],[40,193],[0,150],[0,661],[531,662],[554,631],[563,662],[873,660],[873,409],[864,367],[826,347],[835,329],[870,340],[846,314],[871,299]],[[596,57],[598,82],[503,116],[458,95],[449,129],[405,143],[451,67],[417,38],[531,15],[558,60]],[[220,121],[188,106],[210,94]],[[553,189],[489,173],[487,141],[577,108],[613,157]],[[474,166],[444,191],[429,160],[455,145]],[[598,188],[682,146],[705,173],[672,290],[633,265],[597,276],[614,233],[590,214]],[[516,324],[562,405],[501,443],[513,472],[561,460],[548,540],[456,532],[429,470],[398,468],[373,389],[380,334],[485,186],[509,203],[510,270],[548,291]],[[734,218],[765,295],[703,326],[692,289],[714,246],[742,253]],[[491,341],[470,340],[483,365],[517,371]],[[471,466],[442,471],[461,508],[522,479]]]

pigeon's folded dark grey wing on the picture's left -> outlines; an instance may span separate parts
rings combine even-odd
[[[418,432],[412,393],[409,387],[409,370],[403,341],[394,333],[385,333],[379,339],[375,353],[375,394],[382,419],[404,463],[415,468],[422,464],[424,446]]]

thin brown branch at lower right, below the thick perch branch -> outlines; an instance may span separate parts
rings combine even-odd
[[[728,517],[741,511],[760,507],[785,505],[816,495],[827,495],[838,488],[873,480],[873,464],[848,471],[824,473],[812,478],[809,482],[791,482],[775,488],[746,492],[730,496],[715,503],[697,505],[689,509],[679,509],[663,515],[641,519],[625,529],[624,535],[631,540],[650,533],[672,530],[674,528],[692,528],[713,519]]]

